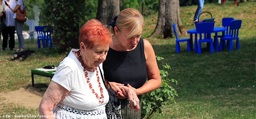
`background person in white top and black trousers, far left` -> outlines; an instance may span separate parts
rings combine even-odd
[[[11,8],[15,8],[16,2],[15,0],[6,0],[8,6]],[[7,43],[8,43],[8,35],[10,37],[9,40],[9,48],[10,50],[14,49],[15,46],[15,39],[14,39],[14,34],[15,34],[15,20],[13,18],[14,13],[10,8],[8,8],[6,5],[4,7],[6,11],[6,19],[4,21],[5,25],[7,26],[6,29],[3,31],[3,44],[2,44],[2,50],[6,50],[7,48]],[[2,51],[1,50],[1,51]]]

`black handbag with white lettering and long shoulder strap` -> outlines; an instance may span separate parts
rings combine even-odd
[[[101,70],[99,68],[100,75],[102,78],[103,83],[105,82],[103,79],[103,75],[101,73]],[[105,88],[108,91],[109,95],[109,101],[107,103],[106,107],[106,114],[108,119],[122,119],[121,116],[121,102],[120,100],[116,97],[116,94],[114,90],[112,89],[111,85],[109,84],[108,80],[105,78],[106,82],[108,83],[110,89],[107,89],[106,84],[104,83]]]

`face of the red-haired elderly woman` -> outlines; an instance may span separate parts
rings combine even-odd
[[[106,59],[108,49],[109,45],[95,45],[90,50],[85,48],[84,64],[90,68],[99,66]]]

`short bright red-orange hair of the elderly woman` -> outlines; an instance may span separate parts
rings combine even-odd
[[[110,45],[112,36],[109,33],[106,25],[103,25],[99,20],[88,20],[80,29],[79,44],[83,42],[86,49],[92,49],[96,44]]]

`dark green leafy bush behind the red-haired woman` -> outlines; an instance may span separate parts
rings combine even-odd
[[[45,0],[41,12],[46,16],[45,23],[53,26],[56,50],[65,52],[79,48],[80,27],[95,18],[96,11],[95,0]]]

